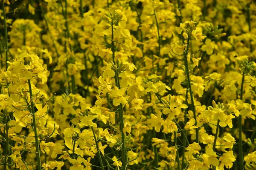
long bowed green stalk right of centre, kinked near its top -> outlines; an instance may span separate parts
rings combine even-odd
[[[188,60],[187,60],[187,57],[186,57],[188,54],[189,54],[189,32],[188,32],[187,48],[186,48],[184,60],[185,60],[185,68],[186,68],[186,75],[187,75],[187,81],[188,81],[192,111],[193,111],[193,116],[194,116],[194,119],[195,119],[195,126],[196,126],[197,125],[197,119],[196,119],[196,114],[195,114],[195,104],[194,104],[193,92],[192,92],[192,88],[191,88],[191,81],[190,81],[190,75],[189,75],[189,63],[188,63]],[[196,142],[198,143],[199,142],[198,128],[195,129],[195,133],[196,133]]]

